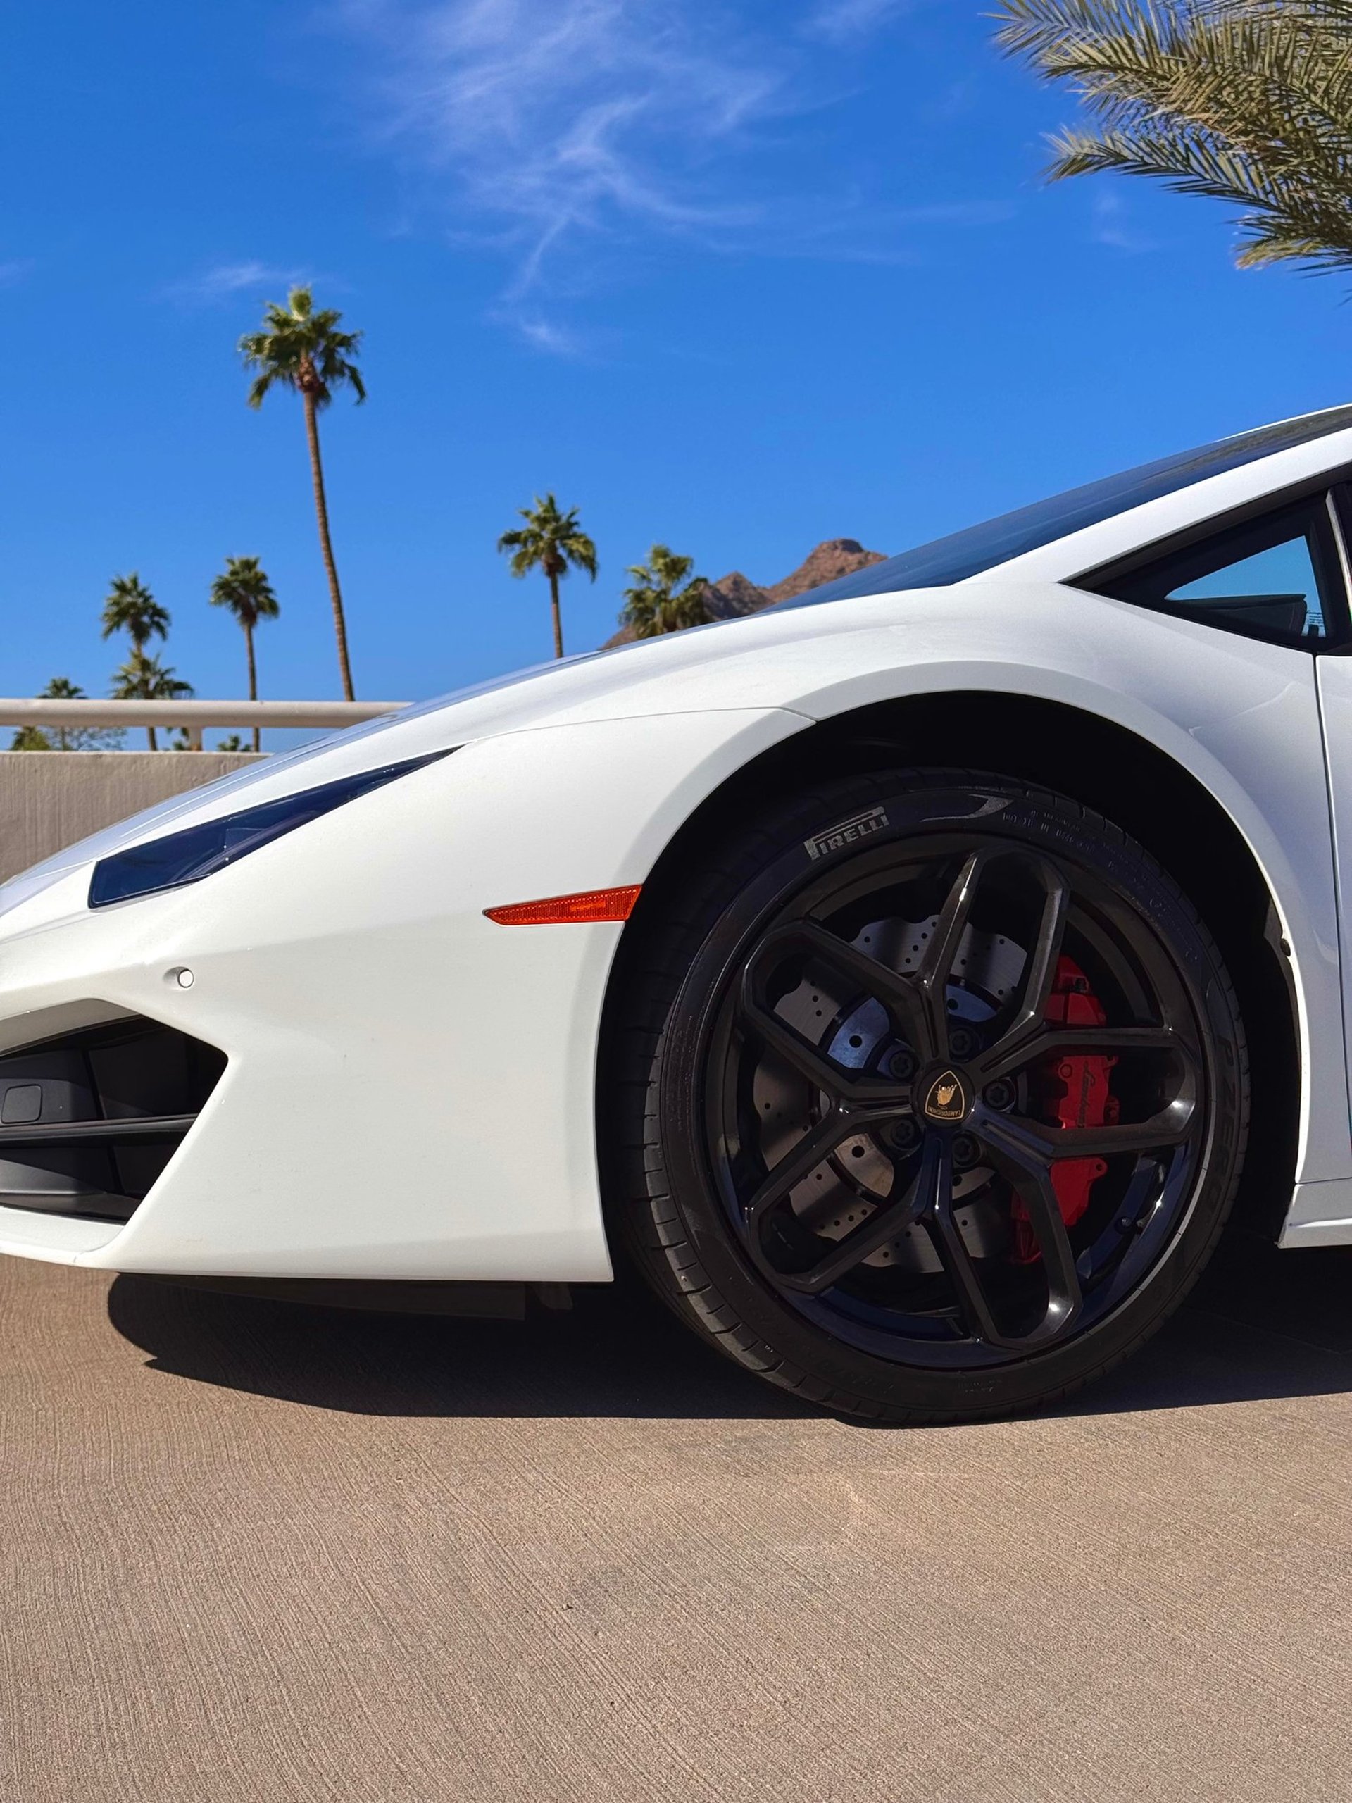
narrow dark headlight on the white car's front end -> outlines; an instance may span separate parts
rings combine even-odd
[[[150,896],[160,889],[182,889],[184,883],[200,882],[202,876],[211,876],[227,864],[238,864],[283,833],[294,833],[297,826],[317,820],[321,813],[332,813],[343,802],[384,788],[395,777],[422,770],[424,764],[447,755],[449,752],[431,752],[427,757],[407,757],[402,764],[362,770],[357,777],[321,783],[319,788],[283,795],[281,801],[265,801],[261,808],[225,813],[218,820],[207,820],[206,826],[189,826],[182,833],[168,833],[144,846],[117,851],[112,858],[99,858],[88,885],[88,905],[108,907],[110,902],[130,902],[132,896]]]

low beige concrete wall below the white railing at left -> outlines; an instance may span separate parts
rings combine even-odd
[[[0,882],[252,752],[0,752]]]

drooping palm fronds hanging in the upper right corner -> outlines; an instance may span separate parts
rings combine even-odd
[[[1352,0],[1004,0],[999,41],[1078,92],[1051,178],[1116,169],[1240,207],[1240,267],[1352,265]]]

